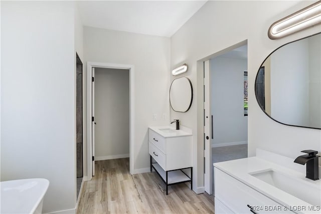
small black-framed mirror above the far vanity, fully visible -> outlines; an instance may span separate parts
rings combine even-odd
[[[170,104],[176,112],[187,112],[193,101],[192,82],[187,77],[173,80],[170,88]]]

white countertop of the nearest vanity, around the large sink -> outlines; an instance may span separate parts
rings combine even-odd
[[[292,208],[294,212],[297,213],[320,213],[320,204],[309,204],[273,185],[270,185],[254,176],[251,173],[265,171],[265,170],[275,170],[286,174],[294,179],[299,179],[307,185],[311,185],[312,188],[319,190],[321,194],[321,180],[310,180],[305,178],[305,174],[300,173],[296,170],[284,167],[282,165],[267,161],[260,157],[249,157],[237,160],[230,160],[225,162],[219,162],[213,164],[216,168],[226,172],[235,179],[245,183],[246,185],[254,188],[255,190],[261,192],[262,194],[268,196],[272,200]],[[316,190],[317,191],[317,190]],[[296,208],[304,207],[306,210],[294,210]],[[308,207],[313,207],[314,211],[307,210]]]

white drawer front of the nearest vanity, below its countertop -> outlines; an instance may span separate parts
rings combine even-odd
[[[245,185],[239,180],[215,168],[215,197],[226,204],[234,213],[293,213],[284,206]],[[274,208],[275,210],[272,210]]]

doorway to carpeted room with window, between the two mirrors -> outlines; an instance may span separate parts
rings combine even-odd
[[[247,157],[247,43],[204,60],[205,191],[214,194],[213,163]]]

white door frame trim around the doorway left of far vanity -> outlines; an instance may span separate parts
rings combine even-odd
[[[87,62],[87,178],[92,178],[92,68],[112,68],[129,70],[129,173],[134,172],[134,66]]]

